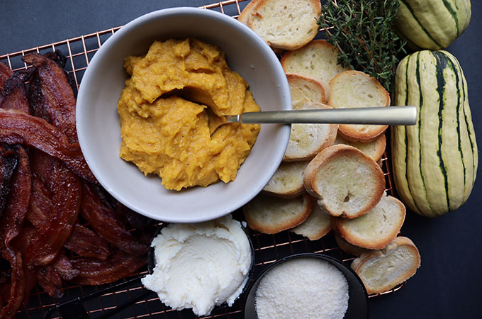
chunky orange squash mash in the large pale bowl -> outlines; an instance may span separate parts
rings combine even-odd
[[[176,191],[233,181],[259,125],[223,125],[211,136],[206,109],[223,116],[259,106],[224,52],[194,38],[155,41],[124,67],[131,77],[118,101],[120,157]]]

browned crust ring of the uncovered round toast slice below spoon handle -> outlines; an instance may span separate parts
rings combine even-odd
[[[371,181],[369,182],[373,183],[374,192],[371,194],[369,201],[367,201],[364,206],[359,207],[359,209],[354,212],[334,211],[333,208],[326,203],[325,198],[323,198],[323,194],[321,194],[321,191],[318,188],[318,185],[324,182],[318,181],[318,171],[323,167],[323,165],[337,160],[340,157],[357,158],[361,164],[366,165],[366,167],[371,171]],[[365,180],[359,182],[366,183],[367,181]],[[341,216],[344,218],[357,218],[368,213],[371,208],[374,208],[376,204],[379,203],[381,196],[383,196],[385,191],[385,177],[381,167],[379,167],[379,165],[376,164],[373,159],[364,155],[361,150],[344,144],[332,145],[319,152],[318,155],[316,155],[306,167],[305,173],[303,174],[303,184],[305,185],[306,191],[308,191],[311,196],[318,198],[318,205],[325,209],[327,213],[329,213],[331,216]]]

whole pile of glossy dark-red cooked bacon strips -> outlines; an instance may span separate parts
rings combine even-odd
[[[65,281],[106,284],[132,274],[145,265],[154,230],[108,196],[87,166],[65,57],[23,61],[33,67],[13,73],[0,62],[0,318],[27,306],[35,284],[60,298]]]

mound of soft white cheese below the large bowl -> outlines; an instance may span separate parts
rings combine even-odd
[[[208,315],[214,306],[231,306],[247,282],[250,242],[230,215],[206,223],[169,224],[151,246],[156,267],[142,284],[174,309]]]

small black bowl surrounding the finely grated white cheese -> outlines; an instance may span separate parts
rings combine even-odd
[[[339,259],[327,256],[326,254],[315,254],[315,253],[306,253],[306,254],[292,254],[291,256],[281,258],[276,260],[273,264],[271,264],[267,269],[264,269],[261,274],[257,277],[257,279],[252,283],[250,286],[250,290],[247,293],[245,298],[245,319],[257,319],[256,313],[256,291],[259,286],[259,282],[263,278],[270,269],[273,269],[277,265],[281,264],[281,262],[285,262],[289,259],[294,258],[304,258],[304,257],[313,257],[313,258],[320,258],[325,260],[325,262],[329,262],[333,266],[337,267],[344,277],[347,279],[348,282],[348,308],[347,312],[344,314],[344,319],[365,319],[368,318],[368,294],[366,293],[365,286],[357,273],[353,271],[350,267],[344,264]]]

